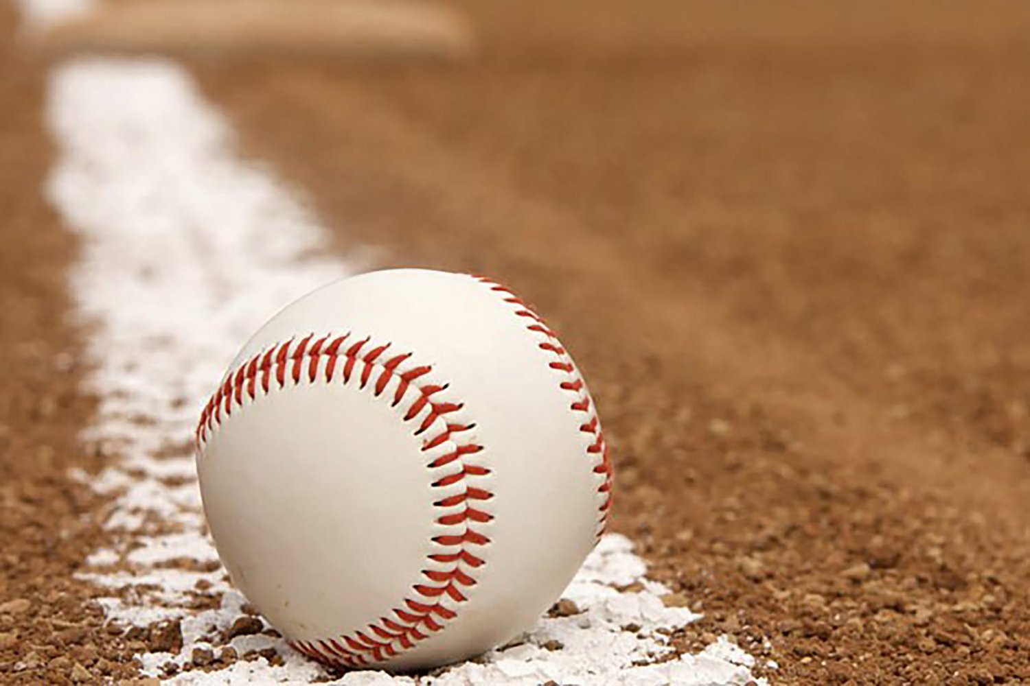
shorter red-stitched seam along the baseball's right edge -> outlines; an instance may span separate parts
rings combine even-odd
[[[583,412],[587,416],[587,421],[580,426],[580,431],[594,437],[594,440],[586,447],[586,454],[594,461],[593,473],[604,477],[604,481],[597,486],[597,494],[602,499],[600,505],[597,506],[597,537],[599,538],[608,526],[608,514],[612,508],[612,463],[608,456],[608,444],[605,442],[605,436],[600,429],[600,421],[592,410],[593,403],[586,392],[583,377],[579,375],[569,353],[558,341],[557,335],[528,304],[505,286],[486,277],[474,276],[473,278],[488,286],[491,291],[503,295],[505,302],[515,305],[517,308],[515,315],[530,322],[526,329],[545,338],[537,347],[555,358],[548,363],[551,369],[565,374],[565,380],[559,383],[558,388],[576,394],[576,400],[569,408],[574,412]]]

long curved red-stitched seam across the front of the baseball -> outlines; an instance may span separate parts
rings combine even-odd
[[[446,390],[447,386],[430,384],[423,380],[432,372],[431,366],[402,369],[410,363],[411,353],[385,355],[389,344],[374,345],[369,338],[353,341],[344,348],[349,336],[350,334],[336,337],[325,335],[314,339],[314,334],[309,334],[299,341],[286,340],[254,355],[226,375],[225,382],[201,412],[196,432],[198,448],[203,448],[209,436],[221,424],[222,413],[228,418],[235,408],[245,405],[244,393],[251,401],[256,400],[259,378],[261,394],[267,395],[272,378],[275,378],[279,388],[283,388],[287,380],[296,386],[302,382],[332,383],[342,377],[342,383],[346,385],[354,377],[358,390],[371,390],[375,397],[381,396],[390,382],[396,380],[397,391],[388,396],[391,405],[400,404],[411,391],[417,393],[402,421],[410,423],[423,411],[425,413],[424,419],[413,429],[415,435],[422,435],[438,422],[443,424],[442,430],[423,437],[421,450],[432,450],[447,441],[454,443],[453,449],[436,457],[427,467],[437,469],[451,463],[460,466],[457,471],[436,478],[432,483],[434,488],[459,484],[457,493],[437,500],[434,506],[446,510],[437,516],[437,523],[452,530],[460,526],[457,530],[460,533],[434,536],[431,539],[433,548],[443,546],[451,550],[427,554],[426,559],[450,567],[443,570],[422,570],[421,574],[426,582],[414,584],[412,590],[417,593],[416,598],[427,602],[405,598],[400,607],[391,610],[391,617],[380,617],[377,623],[351,635],[288,642],[301,653],[339,669],[362,667],[385,661],[401,651],[410,650],[416,642],[442,629],[442,622],[453,619],[456,616],[454,610],[442,603],[445,600],[455,604],[464,603],[467,600],[464,589],[476,585],[470,571],[482,567],[484,561],[473,549],[490,542],[477,529],[493,519],[493,515],[486,511],[488,507],[484,507],[493,498],[493,494],[481,488],[482,483],[470,483],[472,479],[490,474],[488,468],[467,462],[472,456],[483,452],[483,446],[473,442],[469,433],[475,425],[444,421],[448,414],[460,410],[462,405],[434,398]],[[336,376],[334,372],[340,358],[343,358],[343,370],[340,376]],[[319,378],[318,365],[322,361],[325,363],[324,374]]]

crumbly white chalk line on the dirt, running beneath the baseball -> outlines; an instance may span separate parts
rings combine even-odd
[[[110,589],[100,602],[114,622],[180,620],[182,649],[140,655],[147,675],[172,663],[184,683],[325,680],[271,633],[227,645],[240,656],[272,648],[281,664],[260,656],[220,671],[184,671],[194,649],[222,650],[220,637],[245,603],[204,528],[192,432],[242,341],[278,309],[352,266],[324,256],[322,229],[272,174],[234,154],[229,125],[172,63],[59,67],[48,118],[59,159],[47,193],[82,239],[72,287],[93,326],[90,391],[101,400],[83,440],[118,457],[97,477],[77,475],[115,497],[106,526],[117,544],[97,550],[84,575]],[[606,536],[564,593],[581,612],[543,617],[512,645],[418,679],[352,673],[336,683],[751,681],[753,658],[722,639],[671,659],[667,634],[699,615],[666,608],[666,589],[645,577],[631,547]],[[617,589],[629,584],[641,590]]]

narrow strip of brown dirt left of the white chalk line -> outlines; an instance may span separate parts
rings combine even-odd
[[[135,651],[73,578],[104,542],[104,500],[68,476],[104,456],[78,441],[94,401],[78,389],[67,267],[75,241],[42,195],[52,164],[43,72],[15,52],[0,5],[0,683],[132,678]]]

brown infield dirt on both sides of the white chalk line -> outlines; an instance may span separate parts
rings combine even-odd
[[[1030,680],[1025,6],[453,4],[466,64],[193,67],[337,249],[549,318],[614,528],[706,614],[684,648],[729,634],[784,683]],[[63,475],[103,458],[74,440],[42,75],[0,68],[0,591],[33,599],[0,609],[0,666],[81,625],[74,661],[118,674],[70,579],[103,504]]]

